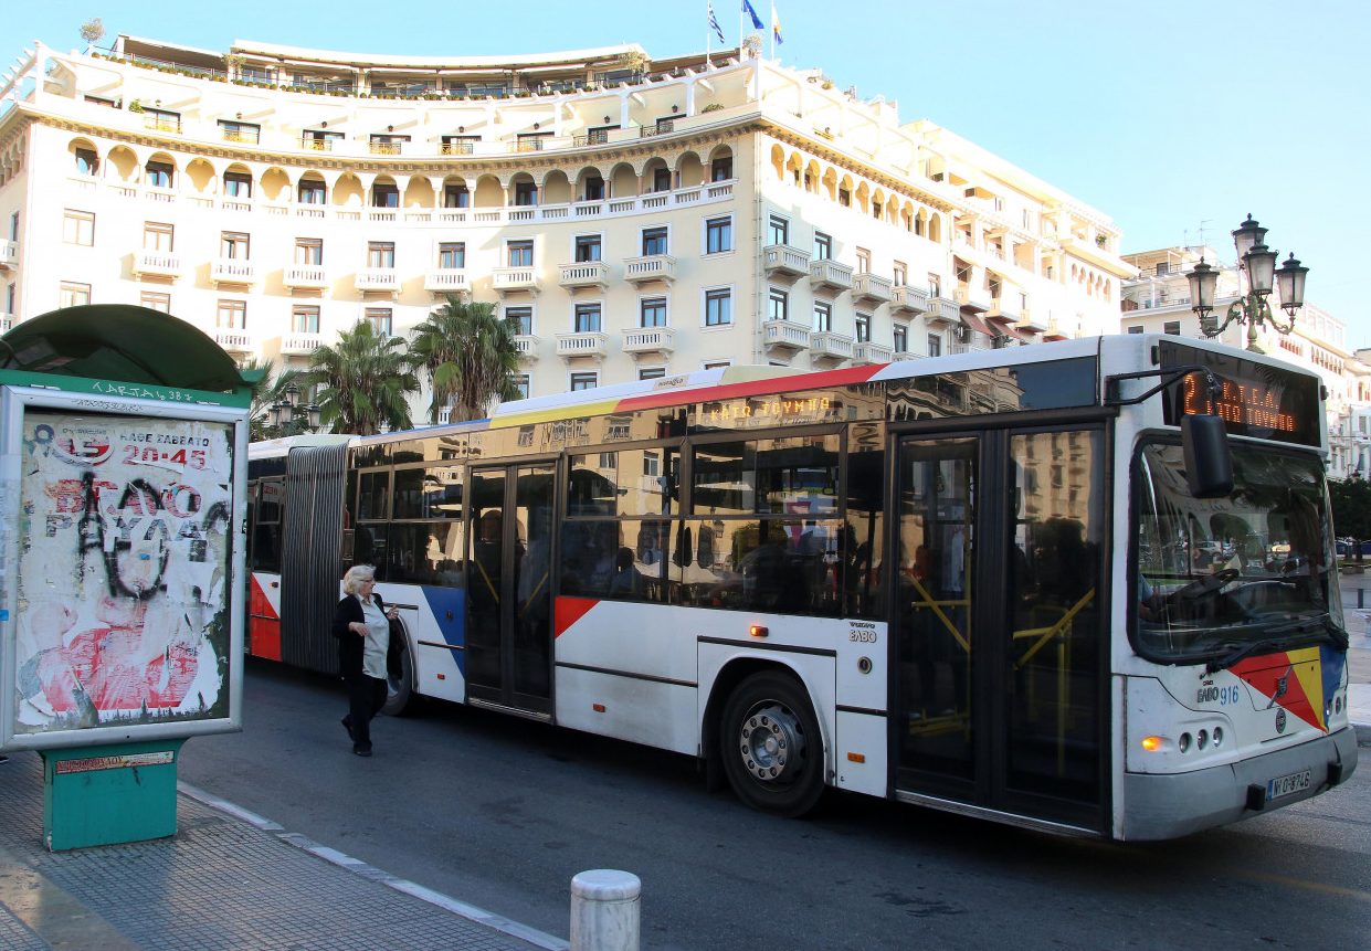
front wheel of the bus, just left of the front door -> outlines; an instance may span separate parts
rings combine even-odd
[[[794,818],[824,792],[824,740],[805,689],[762,671],[740,682],[720,718],[724,774],[747,806]]]

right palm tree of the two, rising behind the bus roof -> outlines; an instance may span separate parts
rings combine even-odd
[[[422,367],[433,389],[429,421],[452,407],[451,422],[478,419],[492,400],[520,397],[514,386],[518,325],[495,315],[495,304],[462,303],[455,295],[414,328],[410,358]]]

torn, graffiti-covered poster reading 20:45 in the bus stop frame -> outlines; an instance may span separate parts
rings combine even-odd
[[[229,715],[232,440],[25,414],[16,733]]]

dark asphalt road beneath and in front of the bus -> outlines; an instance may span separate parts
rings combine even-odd
[[[690,761],[474,710],[348,752],[326,680],[250,665],[245,732],[181,778],[554,935],[570,877],[643,878],[648,948],[1356,947],[1371,928],[1371,750],[1341,789],[1176,841],[1109,845],[834,793],[809,821],[706,793]]]

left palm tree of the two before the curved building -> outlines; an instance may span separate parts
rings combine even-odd
[[[358,321],[333,347],[319,347],[303,375],[318,386],[319,421],[335,433],[373,436],[385,425],[409,429],[409,393],[420,391],[404,341]]]

